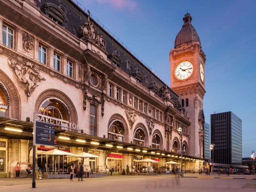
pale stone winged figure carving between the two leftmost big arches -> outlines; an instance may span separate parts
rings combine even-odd
[[[25,84],[25,93],[28,97],[40,85],[41,80],[45,81],[45,78],[39,74],[39,69],[36,69],[31,62],[18,62],[9,58],[8,63],[19,81]]]

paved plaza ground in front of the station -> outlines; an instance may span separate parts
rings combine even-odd
[[[32,179],[1,178],[1,191],[256,191],[256,175],[185,175],[179,178],[174,175],[127,176],[113,175],[102,178],[85,178],[73,182],[68,179],[37,180],[36,189],[31,188]],[[214,178],[220,177],[220,178]]]

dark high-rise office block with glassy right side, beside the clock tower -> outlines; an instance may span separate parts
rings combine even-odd
[[[242,120],[231,111],[211,114],[211,144],[215,163],[242,164]]]

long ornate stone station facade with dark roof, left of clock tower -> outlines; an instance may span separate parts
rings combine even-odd
[[[199,99],[188,97],[199,114],[193,120],[180,94],[72,1],[1,1],[0,65],[0,177],[13,177],[17,162],[23,170],[32,162],[34,112],[56,125],[55,146],[37,151],[101,157],[86,159],[87,169],[140,171],[138,160],[151,158],[160,171],[167,161],[180,163],[181,151],[184,170],[202,168]],[[80,159],[56,161],[64,171]],[[55,166],[49,155],[32,163],[45,171]]]

